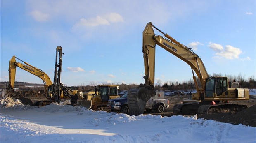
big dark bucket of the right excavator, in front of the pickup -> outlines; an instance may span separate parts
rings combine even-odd
[[[144,113],[147,101],[156,94],[148,85],[140,85],[128,91],[128,106],[130,115],[140,115]]]

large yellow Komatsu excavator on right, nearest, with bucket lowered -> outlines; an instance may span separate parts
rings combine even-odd
[[[164,36],[155,35],[153,28]],[[145,84],[128,92],[128,105],[132,115],[142,114],[145,101],[154,96],[156,45],[186,62],[192,70],[197,93],[193,93],[183,104],[176,104],[173,107],[175,115],[209,114],[223,109],[240,111],[247,108],[245,105],[230,104],[228,101],[249,100],[248,89],[239,88],[238,82],[229,82],[227,77],[209,77],[201,58],[191,48],[180,44],[149,22],[143,31],[142,46]]]

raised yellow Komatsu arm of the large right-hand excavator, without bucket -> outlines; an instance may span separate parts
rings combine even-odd
[[[163,36],[155,35],[154,29],[161,32]],[[152,23],[147,23],[144,31],[143,31],[143,58],[144,58],[144,66],[145,66],[145,83],[154,87],[154,76],[155,76],[155,52],[156,45],[164,48],[166,51],[180,58],[188,65],[190,65],[192,69],[194,83],[197,88],[198,94],[203,94],[205,89],[205,79],[209,77],[206,68],[204,67],[204,63],[201,58],[193,52],[191,48],[180,44],[175,39],[173,39],[168,34],[165,34],[158,28],[156,28]],[[201,88],[197,84],[196,76],[194,72],[197,74],[199,81],[201,83]]]

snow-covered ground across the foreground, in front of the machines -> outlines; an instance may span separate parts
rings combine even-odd
[[[1,143],[255,143],[256,127],[194,117],[129,116],[51,104],[1,102]]]

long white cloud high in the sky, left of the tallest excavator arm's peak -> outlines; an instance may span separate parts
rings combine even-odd
[[[123,22],[123,17],[118,13],[109,13],[104,16],[96,16],[95,18],[81,18],[73,28],[81,27],[97,27],[100,25],[111,25],[111,23]]]

